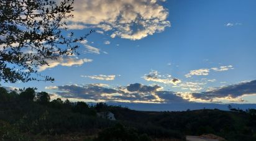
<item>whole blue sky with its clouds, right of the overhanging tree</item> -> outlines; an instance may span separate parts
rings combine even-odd
[[[147,110],[155,104],[158,109],[202,103],[250,107],[256,104],[255,6],[254,0],[75,1],[64,33],[79,37],[96,31],[78,43],[80,55],[38,68],[53,76],[53,83],[2,86],[134,109],[143,109],[139,104]]]

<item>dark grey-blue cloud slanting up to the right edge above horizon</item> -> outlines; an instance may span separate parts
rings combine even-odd
[[[213,91],[207,91],[202,93],[193,93],[194,98],[200,98],[205,100],[212,100],[214,98],[237,98],[243,94],[255,94],[256,93],[256,80],[245,83],[233,84],[219,88]]]

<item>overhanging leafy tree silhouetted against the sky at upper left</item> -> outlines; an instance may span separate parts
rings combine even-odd
[[[63,32],[63,20],[73,17],[73,1],[0,1],[0,81],[54,81],[37,68],[63,55],[79,54],[76,42],[93,30],[79,38]]]

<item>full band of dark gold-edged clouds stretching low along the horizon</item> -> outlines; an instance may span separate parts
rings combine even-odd
[[[181,84],[180,84],[181,85]],[[203,83],[188,82],[188,88],[201,86]],[[158,85],[147,86],[140,83],[129,84],[111,88],[107,84],[83,84],[48,86],[45,89],[55,91],[59,98],[69,98],[89,101],[119,101],[119,102],[147,102],[147,103],[173,103],[173,102],[244,102],[242,96],[256,94],[256,80],[209,89],[201,93],[181,93],[163,91]],[[55,97],[56,97],[55,96]]]

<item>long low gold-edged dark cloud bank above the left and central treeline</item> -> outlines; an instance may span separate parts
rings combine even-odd
[[[146,86],[140,83],[110,88],[104,84],[49,86],[61,98],[89,101],[119,102],[186,102],[181,96],[170,91],[162,91],[158,85]],[[57,88],[57,89],[56,89]]]

